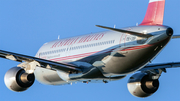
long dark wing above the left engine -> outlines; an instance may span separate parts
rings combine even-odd
[[[71,64],[64,64],[64,63],[49,61],[49,60],[45,60],[45,59],[40,59],[40,58],[36,58],[36,57],[32,57],[32,56],[17,54],[17,53],[13,53],[13,52],[4,51],[4,50],[0,50],[0,57],[9,59],[9,60],[18,61],[18,62],[36,61],[41,65],[41,67],[45,67],[45,66],[49,65],[52,67],[52,69],[58,69],[58,70],[61,70],[64,72],[81,71],[81,69],[79,67],[76,67]]]

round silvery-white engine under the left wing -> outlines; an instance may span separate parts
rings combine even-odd
[[[9,69],[4,76],[4,82],[7,88],[16,92],[27,90],[34,81],[34,74],[28,74],[20,67]]]

